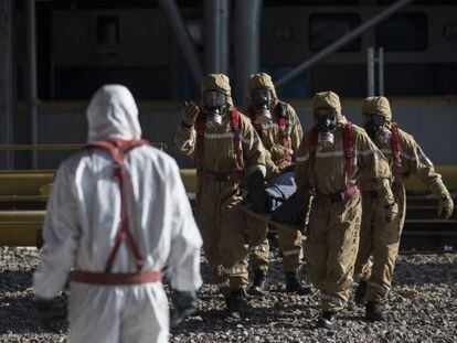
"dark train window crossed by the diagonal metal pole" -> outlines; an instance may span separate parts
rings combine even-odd
[[[326,49],[338,39],[360,25],[357,13],[325,13],[312,14],[309,19],[310,50],[316,52]],[[354,40],[339,51],[359,51],[360,39]]]

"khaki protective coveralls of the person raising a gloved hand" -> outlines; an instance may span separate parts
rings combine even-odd
[[[241,168],[231,126],[234,105],[228,77],[223,74],[205,76],[201,86],[202,96],[206,90],[219,90],[227,97],[228,106],[222,116],[221,127],[205,128],[203,147],[199,147],[195,127],[181,125],[174,133],[173,144],[191,157],[198,169],[196,221],[205,257],[214,270],[223,266],[231,289],[245,288],[248,285],[248,250],[241,180],[216,181],[202,176],[202,173],[237,173]],[[240,144],[246,176],[255,170],[261,170],[265,175],[265,149],[251,120],[241,112]],[[204,151],[203,160],[199,158],[199,149]]]

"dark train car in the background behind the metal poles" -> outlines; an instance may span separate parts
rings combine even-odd
[[[265,0],[261,69],[279,78],[392,2]],[[203,1],[177,3],[203,60]],[[119,79],[141,99],[185,99],[194,95],[191,74],[157,2],[39,1],[36,10],[42,100],[87,99],[100,83]],[[20,3],[17,12],[17,64],[21,76],[24,22]],[[234,25],[232,11],[231,33]],[[285,87],[283,96],[309,98],[329,85],[346,97],[365,95],[366,49],[371,46],[385,51],[387,95],[457,94],[457,1],[428,0],[415,1],[347,44]],[[233,34],[230,47],[233,55]],[[20,98],[23,83],[18,78]]]

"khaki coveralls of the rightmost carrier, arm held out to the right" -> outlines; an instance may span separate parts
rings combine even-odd
[[[362,112],[385,117],[385,126],[391,130],[393,126],[396,126],[392,122],[391,107],[385,97],[366,98],[362,105]],[[397,162],[401,164],[400,168],[395,167],[391,141],[380,143],[375,140],[389,160],[394,176],[392,191],[398,205],[398,215],[393,222],[386,223],[383,219],[382,205],[379,199],[372,195],[376,190],[376,184],[370,175],[363,172],[359,180],[363,194],[363,215],[354,275],[362,274],[362,280],[368,282],[366,301],[378,303],[384,303],[387,300],[387,293],[392,288],[393,271],[406,213],[404,178],[410,173],[415,173],[437,199],[449,195],[442,176],[434,170],[432,161],[425,156],[413,136],[401,129],[397,132],[401,147]],[[393,135],[395,135],[394,130]],[[370,256],[373,256],[373,265],[369,261]]]

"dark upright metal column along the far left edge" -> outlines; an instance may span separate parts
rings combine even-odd
[[[13,142],[13,0],[0,1],[0,141]],[[0,168],[13,169],[13,154],[0,154]]]

